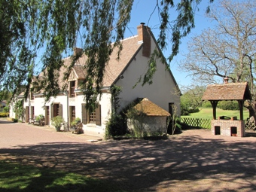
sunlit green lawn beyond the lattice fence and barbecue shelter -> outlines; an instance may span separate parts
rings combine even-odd
[[[239,111],[230,111],[230,110],[222,110],[221,108],[216,109],[216,117],[219,116],[227,116],[227,117],[237,117],[240,118]],[[200,111],[197,113],[192,113],[189,115],[181,116],[181,118],[205,118],[205,119],[212,119],[212,108],[200,108]],[[248,110],[243,111],[243,119],[249,117]]]

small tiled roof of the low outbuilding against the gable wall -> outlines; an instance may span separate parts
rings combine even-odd
[[[169,112],[160,108],[160,106],[154,104],[148,100],[148,98],[139,99],[139,103],[134,106],[137,111],[146,114],[147,116],[169,116]]]

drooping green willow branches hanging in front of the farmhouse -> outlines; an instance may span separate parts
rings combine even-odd
[[[181,38],[194,28],[194,14],[200,2],[151,1],[160,16],[160,48],[172,44],[169,60],[178,53]],[[122,50],[120,40],[130,22],[132,6],[133,0],[0,0],[0,89],[11,90],[14,95],[24,89],[28,96],[35,76],[35,60],[40,56],[44,78],[37,88],[46,99],[56,96],[61,91],[56,71],[63,66],[62,54],[70,53],[80,38],[88,57],[84,95],[87,103],[94,102],[109,55],[114,47]],[[170,17],[173,14],[177,16],[174,20]],[[169,35],[171,42],[166,38]],[[72,57],[72,65],[79,56]],[[66,79],[72,65],[67,68]],[[151,75],[147,81],[152,72],[154,69],[148,70]]]

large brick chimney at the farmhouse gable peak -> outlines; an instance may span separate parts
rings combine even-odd
[[[142,56],[151,56],[151,29],[145,26],[145,23],[141,23],[137,26],[138,30],[138,44],[143,43]]]

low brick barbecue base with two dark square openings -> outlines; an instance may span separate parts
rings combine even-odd
[[[211,130],[213,135],[245,136],[245,122],[243,120],[212,120]]]

